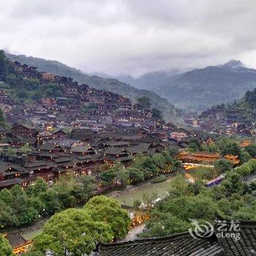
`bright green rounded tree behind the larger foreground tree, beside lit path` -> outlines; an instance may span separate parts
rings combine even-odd
[[[124,238],[127,235],[130,218],[118,200],[104,195],[92,197],[83,209],[94,221],[110,225],[114,238]]]

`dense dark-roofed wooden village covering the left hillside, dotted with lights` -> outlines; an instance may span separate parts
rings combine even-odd
[[[48,183],[67,173],[91,174],[94,166],[121,162],[137,154],[156,154],[168,146],[187,147],[190,140],[206,135],[164,124],[140,101],[135,105],[119,94],[92,89],[72,78],[38,72],[18,61],[10,63],[26,79],[56,83],[61,97],[17,103],[0,92],[0,108],[10,127],[1,127],[0,189],[27,186],[38,177]],[[142,101],[143,102],[143,101]]]

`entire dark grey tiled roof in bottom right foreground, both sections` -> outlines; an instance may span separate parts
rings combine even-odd
[[[99,244],[99,256],[256,256],[256,222],[219,220],[209,238],[195,239],[190,234],[145,238],[135,241]],[[225,224],[225,226],[223,226]],[[220,226],[219,226],[220,225]],[[219,227],[225,227],[222,232]],[[231,230],[231,233],[230,233]],[[239,238],[230,236],[238,234]]]

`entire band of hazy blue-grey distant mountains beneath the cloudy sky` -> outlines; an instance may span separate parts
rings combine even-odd
[[[101,73],[86,75],[58,61],[10,53],[7,56],[12,60],[35,65],[41,70],[71,76],[95,88],[115,91],[134,101],[138,97],[147,96],[152,105],[162,110],[165,116],[176,116],[177,108],[203,111],[212,105],[233,102],[234,99],[244,97],[246,91],[256,88],[256,69],[247,68],[237,60],[184,73],[173,69],[172,72],[149,72],[138,78],[130,75],[111,78]]]

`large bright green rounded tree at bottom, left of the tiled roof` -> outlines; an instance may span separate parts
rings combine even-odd
[[[50,249],[56,255],[89,255],[97,241],[110,242],[112,236],[108,224],[94,221],[83,209],[70,208],[48,220],[32,252],[45,255]]]

